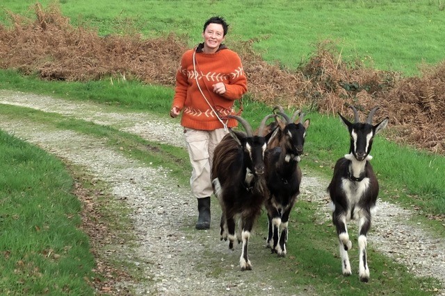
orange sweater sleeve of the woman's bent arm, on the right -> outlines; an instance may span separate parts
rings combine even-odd
[[[232,51],[229,62],[233,64],[234,67],[229,78],[229,83],[225,85],[226,92],[223,94],[223,97],[229,100],[238,100],[248,91],[248,81],[245,77],[241,58],[239,58],[237,53]]]

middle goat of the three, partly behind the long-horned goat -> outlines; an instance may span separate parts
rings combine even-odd
[[[265,156],[266,183],[270,193],[265,202],[268,216],[266,246],[279,256],[285,256],[289,214],[300,194],[302,173],[298,162],[303,153],[310,120],[303,122],[304,114],[300,111],[295,112],[290,119],[281,107],[275,107],[277,108],[280,109],[277,114],[281,115],[285,121],[276,118],[277,128],[271,136]],[[295,121],[298,114],[300,116]],[[269,127],[273,130],[273,125]]]

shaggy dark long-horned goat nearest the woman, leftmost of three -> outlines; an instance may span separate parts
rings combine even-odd
[[[275,114],[266,116],[260,123],[262,133],[266,121]],[[248,259],[248,243],[252,227],[261,214],[267,186],[264,179],[264,153],[269,135],[261,137],[253,134],[249,123],[239,116],[227,116],[238,120],[245,129],[243,132],[229,130],[215,148],[211,179],[213,191],[222,209],[220,223],[221,241],[229,239],[232,250],[235,241],[235,218],[241,230],[243,242],[239,259],[241,270],[252,270]]]

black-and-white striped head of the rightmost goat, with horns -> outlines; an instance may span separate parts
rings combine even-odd
[[[371,146],[373,144],[375,134],[377,134],[378,132],[380,132],[380,130],[387,126],[389,118],[386,117],[385,119],[380,121],[380,123],[373,125],[372,120],[374,113],[379,109],[378,107],[375,107],[373,108],[373,110],[371,110],[371,112],[369,112],[366,122],[361,123],[359,114],[355,107],[352,105],[350,105],[349,107],[354,112],[355,123],[351,123],[350,121],[348,121],[348,119],[341,116],[340,113],[339,116],[348,128],[350,134],[349,153],[352,153],[355,159],[357,159],[359,162],[362,162],[371,152]]]

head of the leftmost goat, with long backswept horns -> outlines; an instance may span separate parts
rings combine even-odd
[[[254,175],[263,175],[265,171],[264,153],[266,151],[266,143],[271,133],[266,134],[266,136],[262,136],[261,134],[264,132],[266,121],[273,116],[275,116],[275,114],[269,114],[261,121],[259,135],[254,135],[252,127],[245,119],[235,115],[227,116],[236,119],[244,127],[245,134],[242,132],[234,132],[233,130],[229,130],[229,132],[243,149],[246,164]]]

